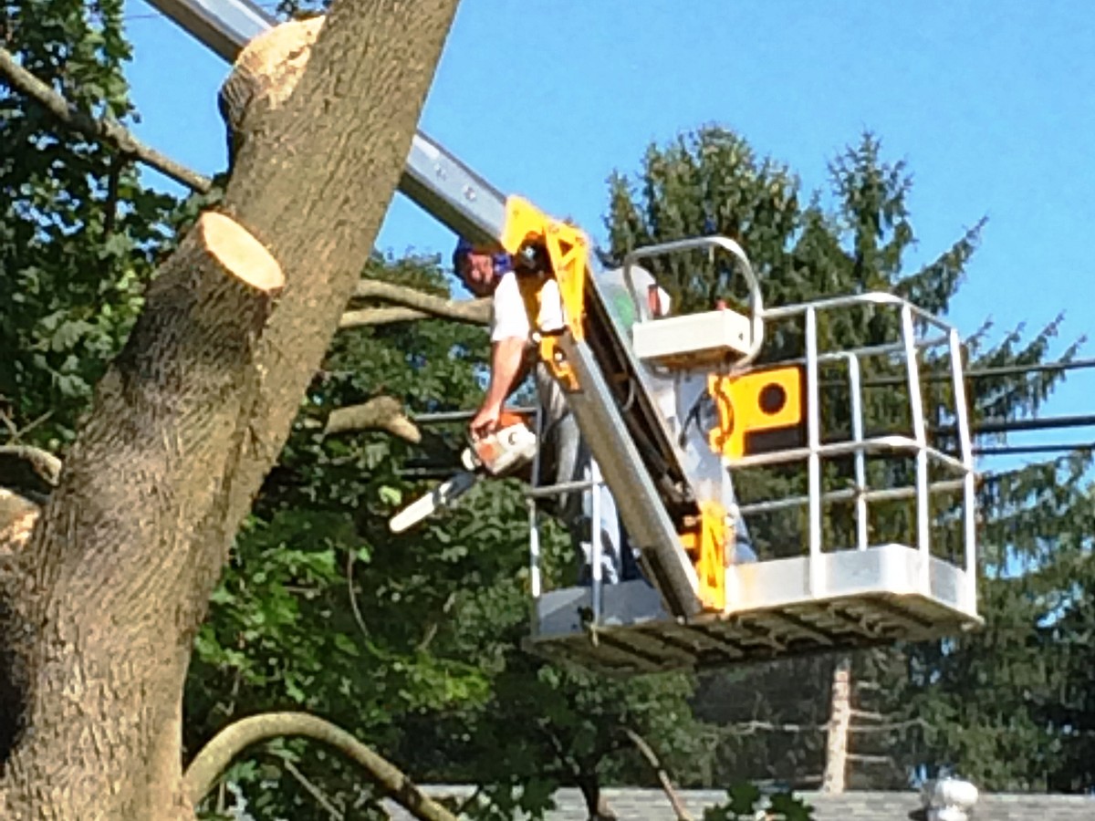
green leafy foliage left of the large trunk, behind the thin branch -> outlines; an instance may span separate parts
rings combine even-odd
[[[87,114],[131,114],[120,0],[0,5],[15,59]],[[169,197],[0,83],[0,443],[68,442],[141,307]]]

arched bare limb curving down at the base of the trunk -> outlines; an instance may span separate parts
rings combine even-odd
[[[300,736],[321,741],[365,767],[369,777],[422,821],[457,821],[391,762],[341,727],[307,713],[265,713],[243,718],[217,733],[186,768],[184,786],[194,805],[212,789],[224,768],[243,750],[260,741]]]

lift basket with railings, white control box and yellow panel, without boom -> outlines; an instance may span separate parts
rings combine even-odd
[[[691,484],[702,499],[701,550],[694,531],[681,528],[688,519],[677,522],[681,552],[696,571],[695,595],[685,602],[691,610],[671,610],[656,575],[603,583],[596,571],[597,528],[591,582],[549,589],[535,500],[573,488],[538,487],[530,494],[534,603],[528,647],[606,672],[642,673],[923,640],[978,625],[976,474],[957,331],[889,293],[765,309],[748,259],[725,238],[636,252],[622,270],[593,277],[591,290],[618,305],[621,282],[635,297],[639,258],[704,246],[736,257],[749,284],[748,314],[723,309],[656,319],[636,301],[639,321],[621,337],[630,337],[637,375],[629,390],[671,396],[659,423],[680,462],[693,466]],[[890,338],[869,347],[826,343],[841,321],[874,321]],[[799,350],[753,365],[765,329],[796,339]],[[936,363],[935,378],[941,363],[948,371],[938,395],[924,395],[925,362]],[[865,372],[884,374],[875,378],[885,388],[883,412],[890,427],[896,418],[906,430],[868,431],[872,382]],[[616,373],[602,384],[621,381]],[[690,414],[704,393],[717,410],[707,430],[696,429]],[[943,407],[952,425],[930,426],[925,405],[937,414]],[[737,504],[731,482],[739,485],[738,498],[751,498]],[[629,498],[619,478],[608,484],[626,524],[629,501],[646,502]],[[797,490],[788,493],[788,484]],[[704,520],[713,501],[724,502],[714,505],[726,521],[721,544],[718,521]],[[756,539],[757,560],[734,555],[738,516]],[[715,531],[707,536],[716,544],[714,556],[704,554],[711,550],[703,545],[705,528]],[[765,530],[779,535],[765,537]]]

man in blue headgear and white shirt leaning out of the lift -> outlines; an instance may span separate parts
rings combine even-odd
[[[532,324],[507,254],[476,248],[461,239],[452,254],[452,267],[473,294],[492,298],[491,377],[483,403],[469,425],[472,438],[481,438],[497,429],[504,403],[529,372]],[[553,332],[563,326],[558,285],[548,280],[540,294],[537,327]],[[535,365],[533,375],[543,408],[541,475],[550,477],[546,484],[590,481],[596,465],[574,417],[567,412],[563,391],[542,363]],[[541,477],[537,478],[540,481]],[[620,521],[608,487],[601,486],[588,493],[561,494],[554,505],[549,504],[548,507],[558,516],[581,548],[585,554],[584,573],[588,574],[592,567],[593,494],[598,495],[600,507],[601,579],[614,583],[633,578],[637,575],[637,566],[631,551],[621,547]]]

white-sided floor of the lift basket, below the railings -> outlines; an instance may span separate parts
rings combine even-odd
[[[701,670],[789,656],[953,635],[980,624],[958,567],[932,558],[927,590],[920,555],[897,544],[823,554],[810,592],[807,557],[728,568],[730,606],[688,621],[669,617],[645,580],[602,588],[592,626],[590,588],[540,597],[528,648],[607,673]]]

